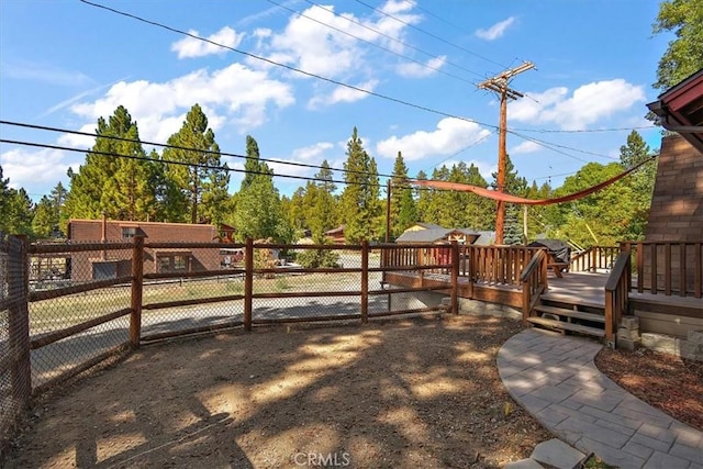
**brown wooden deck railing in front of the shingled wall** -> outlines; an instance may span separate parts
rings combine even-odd
[[[703,297],[703,242],[625,242],[636,276],[632,288],[652,294]]]

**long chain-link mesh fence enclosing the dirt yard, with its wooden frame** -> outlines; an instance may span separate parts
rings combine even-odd
[[[0,425],[33,393],[138,346],[252,325],[446,311],[392,297],[382,247],[233,243],[32,244],[0,236]],[[446,259],[445,259],[446,260]],[[436,263],[436,259],[433,260]],[[434,268],[436,269],[436,265]],[[422,266],[406,266],[412,271]]]

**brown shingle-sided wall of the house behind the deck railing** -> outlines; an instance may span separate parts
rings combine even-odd
[[[679,135],[661,139],[657,181],[651,199],[646,241],[703,241],[703,155]],[[657,256],[661,259],[662,253]],[[687,249],[687,270],[694,265],[694,252]],[[645,279],[650,278],[650,253],[645,252]],[[672,283],[679,284],[678,249],[672,252]],[[663,266],[657,266],[659,282],[663,282]],[[689,272],[690,273],[690,272]],[[694,276],[687,275],[688,288]],[[660,284],[661,287],[661,284]]]

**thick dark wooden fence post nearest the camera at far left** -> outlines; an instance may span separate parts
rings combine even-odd
[[[11,236],[8,254],[8,293],[10,350],[14,355],[11,365],[12,394],[21,407],[30,403],[32,395],[32,365],[30,361],[30,243],[26,235]],[[10,270],[12,269],[12,270]]]

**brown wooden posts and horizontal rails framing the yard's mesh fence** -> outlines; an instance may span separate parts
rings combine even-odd
[[[2,304],[9,309],[10,317],[10,338],[12,340],[13,354],[9,357],[3,357],[0,360],[3,369],[11,370],[12,372],[12,391],[18,398],[21,398],[21,402],[29,402],[29,398],[34,392],[43,391],[48,386],[54,386],[60,381],[76,376],[77,373],[86,370],[89,367],[94,366],[97,362],[108,358],[111,353],[115,350],[133,349],[138,347],[144,340],[156,340],[172,337],[176,335],[185,335],[189,333],[201,333],[205,331],[217,331],[222,327],[243,327],[245,331],[250,331],[253,325],[256,324],[269,324],[269,323],[294,323],[294,322],[317,322],[317,321],[342,321],[342,320],[359,320],[361,323],[369,321],[371,317],[387,316],[392,314],[410,314],[410,313],[427,313],[427,312],[446,312],[451,311],[458,313],[458,294],[457,282],[455,281],[453,287],[447,286],[429,286],[421,288],[400,288],[400,289],[376,289],[369,284],[369,273],[381,272],[386,273],[387,270],[397,269],[397,267],[389,266],[383,263],[380,267],[370,266],[369,259],[371,256],[380,250],[381,258],[395,259],[398,264],[408,264],[404,269],[412,269],[417,272],[447,272],[456,280],[459,271],[459,249],[455,244],[444,246],[439,250],[433,245],[413,245],[416,249],[414,253],[406,249],[398,249],[397,245],[369,245],[364,242],[360,245],[354,246],[299,246],[299,245],[277,245],[277,244],[254,244],[252,239],[248,239],[243,245],[234,244],[220,244],[220,243],[147,243],[144,237],[136,236],[133,243],[91,243],[91,244],[51,244],[51,245],[30,245],[26,238],[13,238],[11,243],[13,246],[19,246],[14,250],[7,253],[8,264],[15,267],[24,266],[24,269],[12,271],[10,281],[10,297],[2,299]],[[160,250],[169,253],[185,253],[190,249],[201,249],[210,253],[212,256],[221,256],[222,252],[231,252],[231,249],[238,248],[239,246],[244,250],[244,266],[234,269],[226,270],[208,270],[207,267],[199,266],[198,269],[191,271],[175,272],[159,272],[157,270],[154,259],[156,254]],[[272,249],[288,249],[288,250],[303,250],[303,249],[334,249],[345,252],[356,252],[360,255],[360,267],[339,267],[339,268],[271,268],[267,265],[255,264],[255,252],[266,252]],[[92,253],[92,254],[91,254]],[[419,254],[417,254],[419,253]],[[3,253],[4,254],[4,253]],[[48,288],[46,290],[30,291],[29,280],[29,267],[31,266],[31,256],[46,257],[59,257],[67,259],[66,263],[69,268],[60,279],[55,281],[44,280],[41,287]],[[92,257],[94,256],[94,257]],[[412,256],[412,257],[411,257]],[[80,259],[81,271],[76,269],[78,263],[72,261],[74,258]],[[150,258],[152,268],[145,272],[144,266],[146,265],[146,258]],[[373,257],[376,259],[376,257]],[[116,259],[119,263],[129,263],[131,267],[125,271],[121,267],[121,270],[115,271],[114,278],[96,278],[97,270],[91,269],[92,261],[104,263]],[[378,263],[378,260],[375,260]],[[72,265],[72,270],[70,266]],[[19,269],[18,267],[18,269]],[[145,284],[153,287],[150,283],[145,283],[145,280],[149,279],[202,279],[207,281],[209,278],[220,278],[223,275],[230,275],[232,272],[238,273],[243,277],[243,292],[236,292],[233,294],[219,294],[211,295],[202,299],[188,298],[177,300],[174,298],[153,298],[144,297]],[[305,291],[255,291],[255,283],[258,278],[263,278],[268,273],[287,273],[287,275],[304,275],[304,273],[319,273],[319,275],[352,275],[358,276],[360,280],[360,288],[358,290],[343,290],[336,291],[319,291],[311,287],[303,287]],[[76,278],[72,278],[75,276]],[[67,278],[68,277],[68,278]],[[156,283],[159,286],[159,283]],[[114,290],[113,290],[114,289]],[[332,290],[332,289],[328,289]],[[413,293],[419,291],[435,291],[448,294],[450,304],[439,304],[437,306],[423,306],[415,309],[403,309],[393,311],[390,308],[390,295]],[[30,304],[33,302],[43,302],[43,305],[52,303],[53,300],[64,301],[63,298],[83,298],[83,295],[92,295],[93,292],[107,292],[107,295],[119,295],[120,301],[126,300],[126,304],[114,305],[112,310],[100,311],[87,314],[79,312],[75,317],[66,317],[66,321],[58,321],[57,326],[54,326],[49,331],[41,330],[34,334],[30,331]],[[77,297],[80,295],[80,297]],[[370,298],[376,295],[387,295],[389,298],[388,311],[369,311]],[[342,315],[327,315],[315,313],[306,317],[255,317],[254,316],[254,303],[255,299],[297,299],[297,298],[358,298],[358,312],[348,313]],[[100,298],[99,294],[96,297]],[[230,303],[242,305],[243,314],[241,316],[233,316],[231,321],[220,322],[212,325],[194,325],[188,330],[179,331],[158,331],[152,332],[145,335],[142,331],[143,311],[156,311],[179,309],[193,305],[204,305],[212,303]],[[56,303],[57,305],[59,303]],[[112,308],[112,304],[109,303]],[[125,308],[126,306],[126,308]],[[70,314],[70,313],[69,313]],[[324,314],[324,313],[323,313]],[[54,316],[52,316],[54,317]],[[70,366],[63,366],[62,371],[51,373],[51,378],[37,386],[32,386],[32,373],[30,362],[30,354],[38,353],[51,354],[56,353],[54,348],[47,349],[46,347],[69,347],[71,338],[82,335],[81,340],[86,343],[91,337],[90,330],[97,326],[103,326],[112,321],[122,320],[129,317],[129,328],[124,334],[124,338],[112,347],[111,351],[101,351],[100,347],[96,346],[96,354],[91,357],[90,354],[83,354],[85,349],[74,350],[75,355],[81,358],[80,362],[71,362]],[[53,320],[52,320],[53,321]],[[126,321],[126,319],[125,319]],[[53,322],[51,322],[53,324]],[[98,339],[99,340],[99,339]],[[64,345],[63,345],[64,344]],[[83,345],[85,346],[85,345]],[[89,347],[89,346],[88,346]],[[43,350],[42,350],[43,349]],[[58,350],[58,349],[57,349]],[[71,351],[68,349],[62,349],[58,355],[60,357],[70,356]],[[58,358],[57,358],[58,359]],[[72,360],[71,360],[72,361]]]

